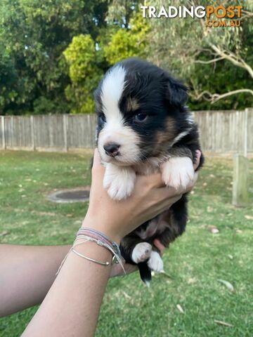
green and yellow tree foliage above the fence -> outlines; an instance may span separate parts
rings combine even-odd
[[[181,6],[175,0],[173,6]],[[171,3],[171,1],[169,1]],[[228,0],[223,1],[227,6]],[[242,26],[206,27],[205,19],[145,19],[143,1],[1,0],[0,113],[93,112],[93,90],[110,65],[138,56],[181,77],[192,91],[190,108],[210,108],[202,93],[252,88],[247,70],[215,55],[210,44],[247,65],[253,62],[249,0]],[[153,6],[164,5],[154,0]],[[186,0],[184,6],[216,6]],[[212,62],[213,58],[220,58]],[[209,62],[211,61],[211,62]],[[200,99],[196,99],[200,97]],[[205,98],[205,99],[204,99]],[[249,93],[219,100],[214,109],[252,105]]]

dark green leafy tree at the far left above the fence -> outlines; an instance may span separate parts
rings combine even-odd
[[[98,34],[107,6],[99,0],[1,1],[1,74],[11,71],[18,78],[12,86],[1,76],[1,113],[69,111],[63,51],[75,35]]]

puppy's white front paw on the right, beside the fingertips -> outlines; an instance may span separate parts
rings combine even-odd
[[[164,183],[176,190],[185,189],[194,179],[193,161],[189,157],[172,157],[161,169]]]

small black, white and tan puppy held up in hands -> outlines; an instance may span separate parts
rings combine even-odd
[[[105,165],[103,185],[112,199],[131,195],[136,173],[160,171],[164,183],[176,189],[193,180],[200,143],[186,100],[186,86],[137,58],[119,62],[105,74],[95,92],[97,146]],[[200,166],[202,161],[203,157]],[[183,194],[169,210],[122,239],[122,256],[138,265],[146,284],[151,270],[163,269],[153,241],[157,238],[169,246],[183,233],[186,204]]]

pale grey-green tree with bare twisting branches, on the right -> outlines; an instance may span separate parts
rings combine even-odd
[[[223,1],[228,6],[230,1]],[[236,108],[252,105],[252,3],[238,1],[242,27],[207,27],[206,18],[149,20],[150,59],[170,67],[176,76],[186,79],[191,91],[191,107],[205,109]],[[155,1],[160,8],[162,1]],[[180,6],[181,1],[173,1]],[[188,0],[185,6],[217,6],[216,1]]]

